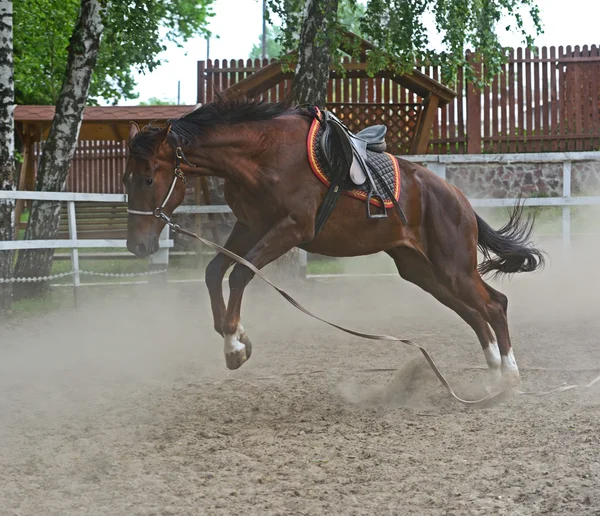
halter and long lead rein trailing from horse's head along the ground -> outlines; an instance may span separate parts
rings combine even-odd
[[[156,208],[154,211],[138,211],[138,210],[127,209],[127,213],[131,213],[132,215],[152,215],[156,218],[162,219],[166,222],[166,224],[171,229],[173,229],[173,231],[175,233],[179,233],[182,235],[187,235],[189,237],[195,238],[196,240],[202,242],[204,245],[210,247],[211,249],[214,249],[215,251],[218,251],[219,253],[223,253],[225,256],[228,256],[235,262],[237,262],[241,265],[245,265],[254,274],[256,274],[260,279],[262,279],[265,283],[267,283],[271,287],[273,287],[277,291],[277,293],[279,295],[281,295],[293,307],[297,308],[298,310],[300,310],[301,312],[305,313],[306,315],[312,317],[313,319],[316,319],[317,321],[320,321],[320,322],[325,323],[333,328],[336,328],[345,333],[348,333],[349,335],[353,335],[355,337],[360,337],[362,339],[383,340],[383,341],[388,341],[388,342],[401,342],[402,344],[405,344],[407,346],[411,346],[413,348],[418,349],[421,352],[421,354],[423,355],[423,357],[425,358],[425,360],[427,360],[427,363],[429,364],[429,366],[431,367],[431,369],[437,376],[438,380],[442,383],[442,385],[446,388],[446,390],[450,393],[450,395],[454,399],[456,399],[457,401],[459,401],[465,405],[472,405],[472,406],[483,405],[484,403],[495,401],[495,400],[501,398],[508,392],[516,392],[517,394],[543,396],[543,395],[547,395],[547,394],[550,394],[553,392],[563,392],[563,391],[567,391],[567,390],[579,387],[578,385],[565,385],[565,386],[561,386],[556,389],[553,389],[551,391],[545,391],[545,392],[541,392],[541,393],[523,392],[523,391],[511,389],[510,387],[505,387],[505,388],[501,389],[500,391],[489,394],[483,398],[480,398],[477,400],[466,400],[466,399],[459,397],[456,394],[456,392],[454,391],[454,389],[452,388],[452,386],[450,385],[448,380],[446,380],[446,377],[442,374],[442,372],[438,368],[437,364],[435,363],[435,361],[433,360],[433,358],[431,357],[429,352],[423,346],[420,346],[419,344],[416,344],[415,342],[413,342],[409,339],[400,339],[400,338],[394,337],[392,335],[378,335],[378,334],[373,334],[373,333],[362,333],[362,332],[359,332],[356,330],[351,330],[349,328],[345,328],[344,326],[340,326],[331,321],[323,319],[322,317],[319,317],[318,315],[312,313],[310,310],[308,310],[307,308],[302,306],[298,301],[296,301],[292,296],[290,296],[285,290],[283,290],[282,288],[275,285],[269,278],[267,278],[267,276],[264,275],[263,272],[261,272],[259,269],[257,269],[252,263],[250,263],[246,259],[242,258],[241,256],[238,256],[237,254],[229,251],[228,249],[225,249],[224,247],[220,246],[219,244],[215,244],[214,242],[211,242],[210,240],[206,240],[206,239],[198,236],[196,233],[194,233],[192,231],[182,228],[181,226],[179,226],[179,224],[175,224],[175,223],[171,222],[171,218],[164,213],[163,209],[166,206],[167,202],[169,201],[169,198],[171,197],[173,190],[175,189],[175,184],[177,183],[177,179],[181,179],[181,181],[183,181],[184,184],[186,183],[186,178],[181,170],[181,161],[182,160],[187,165],[190,165],[192,167],[196,166],[196,165],[190,163],[186,159],[185,155],[183,154],[183,151],[181,150],[181,147],[176,148],[176,150],[175,150],[175,170],[173,171],[173,180],[171,181],[171,186],[169,188],[169,192],[167,193],[167,195],[165,197],[165,200],[162,202],[162,204],[158,208]],[[594,379],[590,383],[588,383],[586,385],[586,387],[591,387],[592,385],[594,385],[597,382],[600,382],[600,376],[598,376],[596,379]]]

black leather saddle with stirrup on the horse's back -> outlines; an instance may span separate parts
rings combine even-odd
[[[331,211],[333,211],[341,185],[348,177],[358,186],[363,185],[367,181],[369,182],[366,199],[367,218],[387,218],[384,198],[378,191],[376,182],[373,179],[367,154],[367,151],[379,154],[385,152],[387,127],[381,124],[372,125],[357,134],[353,134],[333,113],[317,109],[315,109],[315,113],[323,128],[320,141],[321,150],[328,167],[332,171],[331,186],[317,214],[317,233],[325,224],[327,218],[329,218]],[[401,220],[406,223],[406,217],[398,205],[396,198],[389,191],[385,183],[383,183],[383,187],[386,189],[386,195],[392,199]],[[381,206],[383,206],[382,212],[371,212],[371,200],[373,199],[379,200]]]

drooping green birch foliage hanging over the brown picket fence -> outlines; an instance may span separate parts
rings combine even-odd
[[[268,6],[283,20],[279,37],[282,52],[295,50],[304,1],[268,0]],[[509,24],[499,27],[503,17]],[[533,44],[525,17],[531,21],[535,35],[540,34],[536,0],[367,0],[366,9],[357,0],[346,0],[340,1],[336,19],[329,25],[340,32],[352,30],[377,47],[368,56],[371,75],[383,69],[407,73],[420,63],[439,65],[447,83],[454,82],[458,69],[464,67],[467,80],[482,85],[500,71],[506,60],[499,30],[517,32],[527,46]],[[432,48],[428,23],[442,35],[442,51]],[[467,60],[467,50],[477,52],[478,59]],[[341,53],[336,52],[334,61],[339,63],[340,57]],[[478,63],[483,63],[481,73]]]

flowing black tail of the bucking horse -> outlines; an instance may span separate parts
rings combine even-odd
[[[514,274],[532,272],[544,266],[544,255],[530,242],[535,216],[523,219],[523,204],[517,203],[508,222],[495,231],[479,215],[477,218],[477,246],[483,253],[484,261],[479,264],[479,272],[488,274]],[[496,257],[490,254],[493,252]]]

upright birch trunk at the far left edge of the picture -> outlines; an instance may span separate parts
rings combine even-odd
[[[0,0],[0,190],[15,189],[15,83],[12,0]],[[0,241],[15,232],[15,202],[0,199]],[[12,251],[0,251],[0,279],[12,277]],[[0,313],[10,309],[12,284],[0,283]]]

